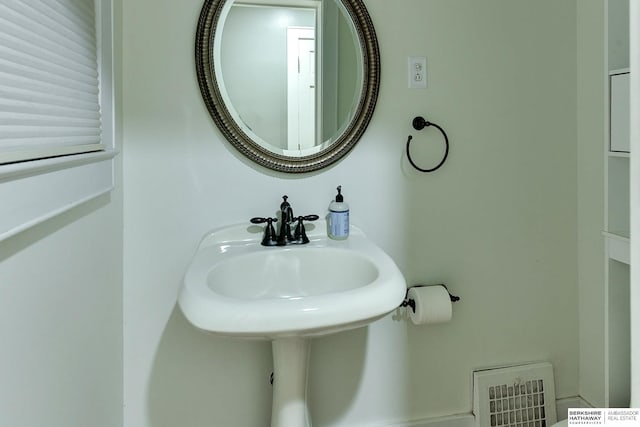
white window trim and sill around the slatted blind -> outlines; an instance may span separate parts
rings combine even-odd
[[[102,151],[0,165],[0,241],[115,186],[113,1],[95,0]]]

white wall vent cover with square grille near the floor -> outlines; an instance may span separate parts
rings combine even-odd
[[[535,363],[473,373],[476,427],[551,427],[556,421],[553,367]]]

